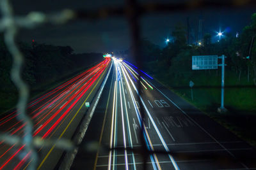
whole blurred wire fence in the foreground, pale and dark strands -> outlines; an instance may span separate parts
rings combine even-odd
[[[24,146],[24,153],[31,153],[33,161],[29,165],[29,169],[36,169],[38,166],[38,153],[37,148],[40,146],[53,146],[59,147],[63,150],[73,150],[76,145],[72,141],[65,139],[40,139],[33,138],[33,121],[26,112],[26,106],[29,98],[29,88],[25,81],[22,79],[22,65],[24,65],[24,55],[20,52],[19,46],[15,42],[15,36],[17,35],[19,28],[34,29],[40,25],[50,23],[52,25],[66,24],[73,20],[102,20],[111,17],[124,17],[129,23],[129,29],[131,31],[131,46],[132,57],[135,59],[137,66],[142,66],[141,60],[141,30],[140,30],[140,18],[149,13],[173,13],[176,11],[188,11],[188,10],[205,10],[207,8],[244,8],[255,7],[256,1],[254,0],[230,0],[230,1],[186,1],[182,3],[139,3],[137,0],[125,0],[125,6],[115,7],[109,6],[106,8],[98,8],[96,10],[63,10],[58,13],[42,13],[42,12],[30,12],[28,15],[16,16],[13,13],[10,0],[0,0],[1,20],[0,31],[4,33],[4,41],[8,48],[8,51],[12,54],[13,64],[11,70],[11,78],[15,86],[19,91],[19,101],[17,103],[17,118],[26,123],[24,128],[24,138],[19,136],[9,136],[8,134],[1,133],[0,139],[9,143],[17,143],[20,146]],[[138,70],[141,74],[140,69]],[[140,78],[140,76],[138,76]],[[140,81],[140,80],[139,80]],[[138,101],[140,101],[140,83],[138,83]],[[145,117],[144,111],[140,108],[141,122]],[[143,126],[140,132],[140,139],[143,142],[140,149],[134,148],[108,148],[108,150],[132,150],[134,153],[140,153],[143,155],[143,169],[146,169],[146,162],[150,154],[163,153],[172,154],[172,152],[165,152],[161,150],[148,150],[145,139],[143,138]],[[25,145],[26,144],[26,145]],[[175,155],[183,157],[184,155]],[[186,155],[186,157],[195,157],[195,155]]]

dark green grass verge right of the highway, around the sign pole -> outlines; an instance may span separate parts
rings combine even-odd
[[[253,81],[247,82],[246,76],[237,80],[236,74],[226,74],[225,108],[227,113],[218,113],[220,107],[220,75],[196,74],[190,78],[170,78],[167,74],[154,74],[157,81],[184,98],[188,103],[214,119],[239,138],[256,147],[256,87]],[[189,81],[195,82],[193,101]]]

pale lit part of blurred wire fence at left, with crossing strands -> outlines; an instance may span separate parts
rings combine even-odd
[[[20,122],[24,122],[24,137],[10,136],[8,134],[0,134],[0,139],[9,144],[16,144],[24,146],[25,155],[30,153],[31,164],[29,169],[36,169],[38,162],[38,153],[36,147],[40,146],[53,146],[64,148],[69,150],[74,148],[74,145],[69,140],[51,140],[33,138],[33,121],[29,117],[26,108],[29,98],[28,85],[22,80],[22,66],[24,65],[24,56],[19,50],[15,37],[19,27],[34,28],[37,25],[50,22],[52,24],[63,24],[74,15],[70,10],[63,10],[61,13],[55,15],[45,15],[40,12],[31,12],[26,17],[15,17],[13,15],[13,9],[8,0],[0,1],[0,8],[2,12],[2,19],[0,21],[0,30],[4,32],[4,42],[8,51],[11,53],[13,58],[13,64],[11,69],[11,79],[19,92],[19,100],[17,103],[17,119]],[[19,113],[19,114],[18,114]]]

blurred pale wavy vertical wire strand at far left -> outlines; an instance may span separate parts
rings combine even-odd
[[[4,30],[4,41],[6,43],[6,47],[13,57],[13,65],[11,70],[11,78],[15,86],[19,91],[19,101],[17,103],[17,119],[20,122],[24,122],[24,138],[18,138],[24,146],[24,152],[31,152],[31,156],[33,157],[33,161],[31,162],[30,169],[36,168],[36,162],[38,160],[38,155],[35,150],[35,146],[33,145],[33,122],[29,115],[26,113],[26,106],[29,97],[29,89],[28,85],[22,80],[22,65],[24,64],[24,57],[20,52],[17,44],[15,43],[15,36],[17,34],[17,25],[15,20],[13,19],[13,11],[12,7],[8,0],[1,1],[1,11],[3,15],[3,30]],[[1,24],[2,25],[2,24]],[[13,138],[9,136],[9,138]],[[7,142],[9,138],[6,138]]]

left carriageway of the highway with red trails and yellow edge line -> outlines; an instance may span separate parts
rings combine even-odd
[[[71,139],[86,113],[85,102],[92,101],[111,67],[106,58],[96,66],[71,80],[49,90],[28,104],[28,114],[34,122],[33,136],[41,139]],[[24,137],[24,122],[18,121],[16,111],[0,118],[0,131]],[[0,143],[0,169],[28,169],[33,157],[24,152],[24,145]],[[54,169],[64,150],[55,145],[38,148],[37,169]]]

